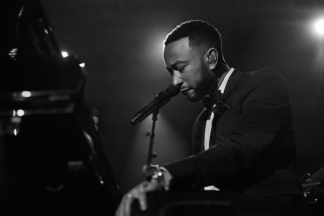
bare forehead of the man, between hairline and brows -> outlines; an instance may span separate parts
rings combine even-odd
[[[177,61],[187,61],[198,57],[198,52],[189,47],[189,38],[184,37],[168,44],[164,51],[166,63],[174,64]]]

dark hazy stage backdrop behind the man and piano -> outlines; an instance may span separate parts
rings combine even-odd
[[[121,192],[145,175],[152,119],[130,120],[171,78],[164,37],[188,19],[205,19],[223,36],[229,66],[278,70],[286,79],[295,115],[300,175],[324,166],[324,38],[311,23],[324,16],[323,1],[44,0],[62,51],[79,55],[88,72],[86,98],[99,110],[99,134]],[[160,109],[153,163],[188,155],[191,125],[203,105],[181,94]],[[75,149],[77,151],[77,149]],[[275,162],[275,161],[274,161]]]

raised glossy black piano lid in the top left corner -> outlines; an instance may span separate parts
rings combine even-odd
[[[12,25],[9,29],[12,32],[7,35],[13,37],[11,42],[16,46],[13,48],[18,49],[18,56],[62,58],[61,50],[41,2],[37,0],[11,2],[13,2],[10,4],[14,14],[9,15],[12,19],[9,21]]]

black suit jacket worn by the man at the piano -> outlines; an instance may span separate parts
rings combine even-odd
[[[297,195],[293,112],[284,78],[265,68],[230,76],[223,99],[230,106],[215,122],[215,144],[204,146],[206,109],[193,126],[195,155],[165,164],[171,189],[214,185],[253,197]]]

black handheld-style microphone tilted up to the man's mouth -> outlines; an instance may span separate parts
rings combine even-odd
[[[166,103],[168,103],[172,97],[178,95],[180,90],[173,86],[173,84],[169,84],[168,88],[165,91],[161,91],[158,95],[153,98],[153,100],[148,103],[143,109],[138,111],[131,120],[131,124],[135,125],[138,122],[145,119],[149,116],[153,111],[163,107]]]

